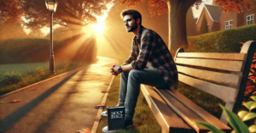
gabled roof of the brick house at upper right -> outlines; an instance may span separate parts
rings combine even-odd
[[[211,4],[205,4],[204,8],[206,8],[207,13],[209,14],[209,16],[211,17],[213,22],[219,21],[219,17],[220,17],[222,10],[218,6],[211,5]],[[203,12],[203,9],[201,11],[201,14],[202,14],[202,12]],[[201,14],[200,14],[200,17],[197,19],[196,24],[198,23],[198,20],[201,18]]]

